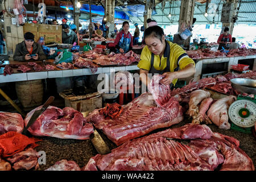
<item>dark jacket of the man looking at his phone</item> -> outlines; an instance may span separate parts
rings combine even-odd
[[[32,48],[33,48],[32,55],[38,54],[38,60],[35,60],[32,58],[30,60],[25,59],[25,56],[30,53],[27,50],[24,40],[21,43],[16,45],[13,60],[14,61],[43,61],[43,60],[46,60],[46,55],[44,54],[42,46],[40,46],[38,43],[34,42],[32,45]]]

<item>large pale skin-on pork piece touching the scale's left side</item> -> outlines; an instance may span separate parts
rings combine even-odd
[[[235,96],[227,96],[217,100],[210,106],[207,115],[210,120],[220,129],[230,129],[230,123],[228,122],[228,109],[229,106],[236,100],[237,97]]]

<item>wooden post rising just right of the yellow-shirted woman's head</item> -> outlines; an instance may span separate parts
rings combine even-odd
[[[183,0],[183,1],[181,1],[178,31],[180,31],[181,24],[183,22],[185,22],[187,24],[191,24],[191,26],[192,26],[194,9],[195,9],[195,0]],[[184,47],[189,47],[190,38],[191,37],[184,40]]]

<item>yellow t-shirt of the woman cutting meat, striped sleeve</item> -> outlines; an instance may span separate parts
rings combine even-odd
[[[174,72],[174,69],[177,68],[178,64],[180,69],[187,67],[188,64],[193,64],[195,67],[195,61],[188,57],[187,53],[179,45],[169,42],[170,45],[170,71]],[[163,55],[160,60],[159,55],[154,55],[154,68],[159,71],[163,71],[167,67],[167,55]],[[140,69],[145,69],[150,71],[151,68],[151,51],[145,46],[142,49],[141,60],[138,63]],[[172,83],[175,85],[177,79],[174,79]]]

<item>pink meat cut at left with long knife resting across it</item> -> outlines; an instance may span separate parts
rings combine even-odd
[[[24,119],[27,126],[32,114],[41,109],[42,106],[31,110]],[[35,136],[48,136],[56,138],[89,139],[93,133],[93,126],[85,122],[82,113],[72,107],[48,106],[38,119],[28,128],[28,131]]]

